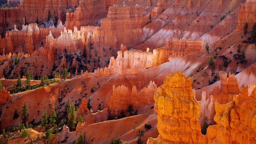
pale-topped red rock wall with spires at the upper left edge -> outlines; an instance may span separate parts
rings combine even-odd
[[[54,36],[58,36],[63,30],[64,26],[62,23],[57,28],[52,26],[46,29],[38,29],[36,23],[31,23],[26,26],[23,25],[21,31],[17,30],[15,25],[14,30],[7,31],[5,38],[0,39],[0,53],[32,53],[35,50],[35,45],[39,44],[42,39],[45,39],[50,31],[52,31]]]

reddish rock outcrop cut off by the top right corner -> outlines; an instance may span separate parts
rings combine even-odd
[[[240,13],[238,14],[236,31],[244,30],[245,23],[248,23],[248,28],[251,29],[256,22],[256,0],[246,0],[242,3]]]

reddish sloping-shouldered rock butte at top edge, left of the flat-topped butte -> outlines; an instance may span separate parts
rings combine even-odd
[[[83,0],[75,12],[66,14],[65,26],[67,29],[74,29],[74,26],[80,29],[80,26],[94,25],[95,21],[106,12],[104,0]]]

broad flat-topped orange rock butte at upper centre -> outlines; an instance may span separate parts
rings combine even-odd
[[[119,7],[116,4],[109,7],[108,16],[101,20],[101,27],[94,30],[93,39],[106,46],[131,45],[142,37],[142,27],[141,6]]]

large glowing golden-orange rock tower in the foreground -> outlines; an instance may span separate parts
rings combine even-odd
[[[163,80],[163,87],[154,94],[157,111],[157,139],[147,143],[198,143],[202,138],[200,102],[194,98],[192,80],[180,72],[172,72]]]

